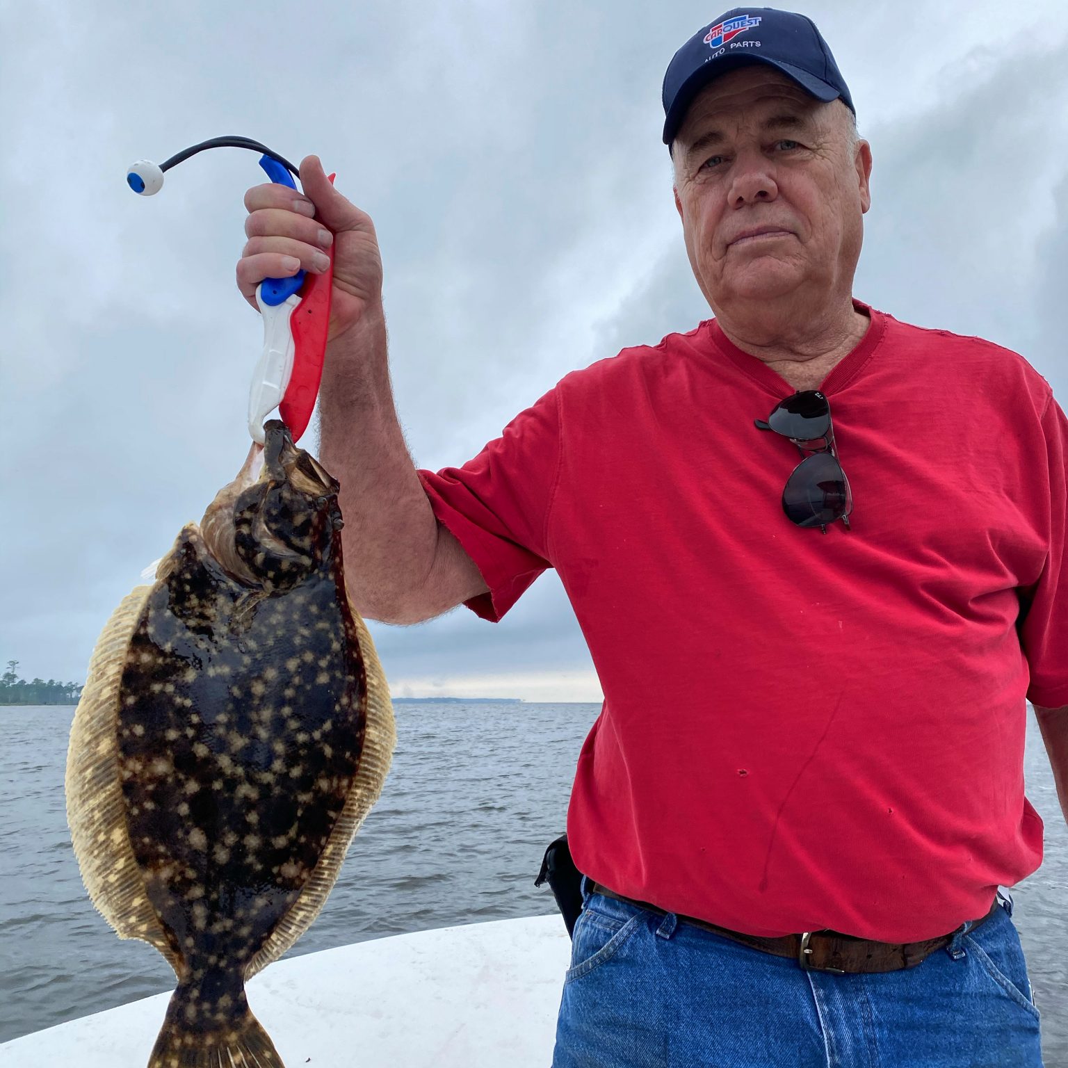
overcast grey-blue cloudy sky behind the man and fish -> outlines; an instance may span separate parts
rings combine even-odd
[[[875,157],[857,296],[1015,348],[1065,405],[1068,6],[803,10]],[[223,134],[318,153],[378,229],[415,459],[458,465],[568,371],[710,314],[660,84],[719,14],[0,2],[0,659],[83,679],[111,611],[248,449],[262,331],[233,274],[256,157],[198,156],[152,199],[129,162]],[[394,694],[600,697],[551,572],[498,625],[461,609],[373,631]]]

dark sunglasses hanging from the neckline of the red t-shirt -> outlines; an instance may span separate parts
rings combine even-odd
[[[805,390],[783,400],[757,429],[789,438],[804,459],[794,469],[783,490],[783,512],[798,527],[818,527],[841,519],[849,530],[853,494],[834,449],[831,406],[819,390]]]

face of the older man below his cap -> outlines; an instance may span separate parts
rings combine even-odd
[[[764,64],[694,99],[673,145],[675,204],[717,314],[851,292],[871,153],[851,146],[849,120],[839,100],[822,104]]]

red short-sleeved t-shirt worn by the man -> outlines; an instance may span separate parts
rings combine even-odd
[[[1041,862],[1024,698],[1068,705],[1068,421],[1015,352],[857,307],[822,384],[851,532],[784,515],[801,454],[753,421],[794,390],[714,320],[420,474],[490,588],[470,608],[555,567],[582,627],[580,870],[753,934],[917,941]]]

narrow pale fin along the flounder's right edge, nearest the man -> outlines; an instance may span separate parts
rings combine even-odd
[[[390,770],[393,747],[396,744],[396,726],[393,721],[389,684],[386,681],[386,674],[375,651],[371,632],[351,606],[351,600],[349,610],[356,624],[360,655],[363,657],[363,669],[367,680],[367,719],[360,760],[345,807],[330,832],[315,869],[301,888],[296,901],[271,931],[270,938],[249,961],[245,971],[246,980],[265,969],[272,960],[278,960],[308,930],[323,910],[333,884],[337,881],[345,853],[364,817],[378,800]]]

